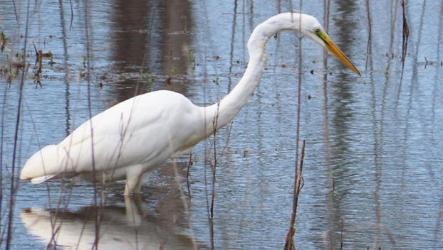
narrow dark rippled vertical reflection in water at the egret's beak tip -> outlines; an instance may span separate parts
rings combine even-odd
[[[341,0],[335,3],[337,9],[333,10],[336,13],[333,16],[333,21],[330,26],[336,27],[337,31],[334,38],[337,40],[337,44],[343,51],[352,53],[351,46],[355,46],[355,22],[353,20],[346,19],[345,17],[355,16],[354,12],[355,2]],[[337,63],[336,67],[343,67]],[[346,176],[352,176],[353,165],[350,163],[349,156],[352,151],[351,141],[355,137],[352,127],[356,122],[354,117],[353,103],[355,98],[353,96],[352,86],[349,84],[341,84],[350,82],[348,80],[348,72],[338,72],[337,81],[338,84],[333,85],[333,92],[329,92],[325,89],[324,94],[329,96],[325,99],[329,99],[329,103],[325,104],[325,134],[326,140],[326,152],[328,161],[328,173],[334,175],[331,183],[333,192],[328,197],[328,241],[331,249],[340,244],[340,235],[343,232],[343,219],[346,217],[345,207],[343,200],[349,195],[348,183],[352,183],[353,180],[348,178],[346,183],[341,183]],[[333,153],[331,153],[333,152]],[[335,181],[338,180],[337,183]]]

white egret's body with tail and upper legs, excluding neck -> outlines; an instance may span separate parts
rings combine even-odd
[[[204,127],[209,118],[204,112],[204,107],[167,90],[127,99],[86,121],[58,145],[35,153],[21,177],[32,176],[33,183],[62,173],[90,182],[126,178],[129,190],[140,191],[142,175],[210,134],[212,127]]]

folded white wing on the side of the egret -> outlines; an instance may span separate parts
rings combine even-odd
[[[175,125],[188,103],[170,91],[142,94],[94,116],[58,146],[73,159],[76,172],[91,170],[93,154],[95,170],[158,165],[174,153],[174,143],[181,143],[174,138],[184,128]]]

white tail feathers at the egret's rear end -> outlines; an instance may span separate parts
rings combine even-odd
[[[56,145],[48,145],[34,153],[21,168],[20,179],[31,180],[31,183],[43,183],[54,178],[61,169],[61,159],[66,153]]]

